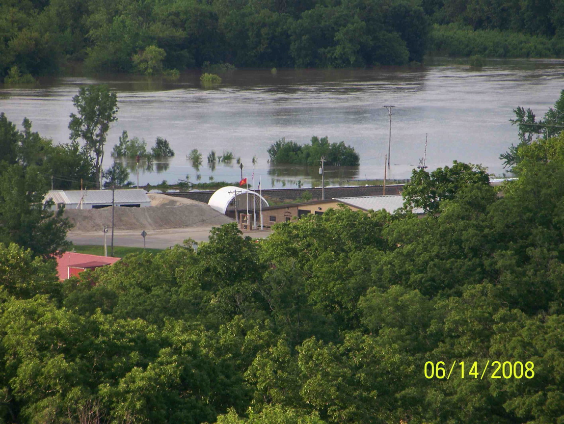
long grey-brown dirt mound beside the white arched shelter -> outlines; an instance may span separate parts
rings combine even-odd
[[[165,196],[169,197],[169,196]],[[174,198],[174,200],[177,200]],[[188,200],[188,199],[184,199]],[[115,207],[115,229],[168,229],[220,226],[233,219],[226,217],[208,204],[190,200],[181,206]],[[101,231],[112,226],[112,208],[65,209],[64,216],[74,224],[72,231]]]

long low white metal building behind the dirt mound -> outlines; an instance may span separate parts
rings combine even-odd
[[[67,209],[100,209],[112,206],[111,190],[52,190],[45,195],[45,201],[52,199],[57,210],[61,206]],[[142,188],[118,189],[114,192],[114,205],[126,207],[151,206],[151,200]]]

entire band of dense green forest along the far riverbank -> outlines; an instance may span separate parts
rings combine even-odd
[[[69,64],[178,76],[187,68],[365,67],[426,52],[564,54],[564,2],[472,0],[4,0],[0,81]]]

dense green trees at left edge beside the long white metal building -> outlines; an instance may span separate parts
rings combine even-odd
[[[0,113],[0,246],[17,243],[34,255],[49,257],[69,246],[65,237],[70,228],[62,210],[55,214],[49,210],[51,203],[43,204],[49,173],[90,173],[92,167],[76,145],[53,146],[51,140],[32,132],[29,120],[24,119],[23,126],[23,131],[17,130]]]

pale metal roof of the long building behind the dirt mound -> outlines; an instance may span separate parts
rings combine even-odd
[[[51,190],[45,195],[45,200],[52,198],[55,204],[111,204],[111,190]],[[144,203],[151,202],[142,188],[118,189],[114,193],[114,203]]]

